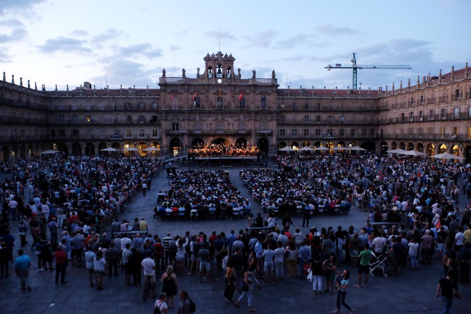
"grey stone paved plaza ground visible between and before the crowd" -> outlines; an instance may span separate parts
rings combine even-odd
[[[231,180],[235,182],[239,190],[249,197],[247,190],[239,179],[238,168],[228,168]],[[152,209],[157,199],[159,190],[168,189],[168,180],[162,171],[152,181],[151,190],[147,192],[147,197],[139,195],[128,206],[128,212],[120,215],[120,219],[127,218],[134,220],[145,217],[149,224],[149,232],[163,237],[166,232],[172,235],[184,234],[186,230],[191,234],[204,231],[210,234],[211,231],[225,231],[229,233],[231,229],[238,231],[246,227],[246,220],[235,221],[160,221],[152,218]],[[464,196],[460,198],[460,204],[465,204],[467,200]],[[462,206],[462,205],[461,205]],[[461,207],[462,208],[462,207]],[[254,204],[253,212],[258,212],[258,207]],[[367,214],[355,207],[348,215],[327,215],[324,217],[314,217],[310,226],[321,227],[342,226],[347,229],[353,225],[356,230],[364,227]],[[301,227],[302,217],[292,217],[294,224]],[[19,236],[16,224],[12,232],[19,244]],[[303,234],[309,228],[300,228]],[[109,233],[108,233],[109,234]],[[48,231],[49,235],[49,231]],[[28,241],[31,237],[28,236]],[[31,244],[31,242],[30,242]],[[15,248],[15,251],[17,248]],[[20,282],[12,274],[7,279],[0,280],[0,313],[152,313],[155,300],[142,301],[142,287],[127,287],[124,283],[124,274],[120,272],[118,277],[104,278],[104,290],[98,291],[96,288],[88,286],[87,274],[84,268],[67,268],[67,285],[54,284],[55,272],[38,272],[36,268],[37,259],[33,250],[25,247],[25,253],[32,259],[30,270],[32,292],[19,290]],[[16,253],[15,253],[16,257]],[[407,265],[408,266],[408,265]],[[355,288],[356,270],[352,267],[343,268],[352,271],[353,278],[350,281],[346,302],[355,310],[355,313],[440,313],[443,302],[436,298],[437,282],[443,276],[440,261],[434,260],[432,265],[420,265],[419,271],[409,271],[405,269],[401,277],[375,276],[370,278],[367,288]],[[160,271],[160,275],[162,272]],[[179,289],[186,289],[190,297],[197,305],[196,313],[202,314],[222,314],[222,313],[248,313],[247,299],[243,299],[242,309],[235,308],[234,304],[229,304],[224,300],[222,273],[218,274],[219,281],[214,283],[198,283],[196,276],[178,277]],[[160,276],[158,277],[160,278]],[[325,281],[323,282],[325,284]],[[158,284],[157,289],[161,285]],[[452,313],[470,313],[471,308],[471,285],[458,285],[461,300],[454,299]],[[238,294],[235,294],[235,298]],[[178,296],[175,301],[178,304]],[[275,282],[274,285],[264,285],[261,290],[255,290],[253,294],[253,307],[258,313],[332,313],[336,309],[336,296],[324,294],[314,296],[312,294],[312,284],[300,278],[289,278],[285,269],[285,280]],[[169,313],[178,313],[177,308]],[[347,313],[343,308],[341,313]]]

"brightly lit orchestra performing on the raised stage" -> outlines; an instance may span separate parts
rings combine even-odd
[[[256,145],[206,144],[188,149],[188,157],[221,157],[221,156],[257,156],[260,149]]]

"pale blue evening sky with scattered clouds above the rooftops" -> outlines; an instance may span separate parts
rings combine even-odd
[[[358,64],[412,66],[358,71],[363,89],[390,89],[471,61],[470,8],[468,0],[1,0],[0,71],[49,90],[102,88],[105,78],[110,88],[155,87],[164,67],[195,77],[219,50],[220,23],[220,49],[243,78],[275,69],[282,88],[347,88],[350,69],[324,66],[357,52]]]

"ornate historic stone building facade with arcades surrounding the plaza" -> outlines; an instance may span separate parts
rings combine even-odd
[[[471,162],[471,72],[465,68],[401,82],[390,91],[280,89],[271,78],[242,79],[232,54],[204,57],[196,78],[159,79],[159,89],[47,91],[0,81],[1,160],[45,149],[95,155],[101,149],[157,147],[162,154],[207,143],[283,146],[358,145],[447,151]],[[202,73],[200,73],[200,71]]]

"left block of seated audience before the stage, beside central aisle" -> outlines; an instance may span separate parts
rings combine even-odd
[[[168,191],[159,191],[154,216],[162,219],[204,219],[221,215],[248,215],[251,202],[223,170],[183,169],[170,182]]]

